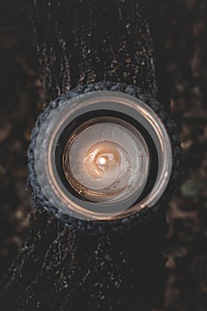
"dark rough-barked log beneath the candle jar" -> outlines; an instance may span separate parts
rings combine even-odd
[[[109,81],[139,86],[169,108],[163,63],[155,62],[163,55],[161,28],[155,4],[146,4],[149,24],[157,27],[155,51],[139,1],[29,2],[45,106],[76,85]],[[161,305],[164,208],[132,230],[104,235],[80,233],[38,209],[4,278],[2,309],[145,311]]]

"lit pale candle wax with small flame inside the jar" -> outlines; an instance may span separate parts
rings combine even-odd
[[[84,122],[71,133],[62,157],[73,189],[96,203],[118,203],[147,182],[147,144],[131,124],[111,116]]]

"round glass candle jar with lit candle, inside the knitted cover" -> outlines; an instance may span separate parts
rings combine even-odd
[[[91,92],[60,102],[36,139],[44,195],[77,219],[112,220],[152,207],[171,175],[171,142],[143,101]]]

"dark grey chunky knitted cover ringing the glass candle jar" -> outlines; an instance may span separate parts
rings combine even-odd
[[[169,133],[171,139],[171,148],[172,148],[172,170],[171,170],[171,180],[168,185],[163,198],[156,203],[153,207],[146,208],[143,211],[139,211],[136,215],[131,216],[127,219],[115,220],[115,221],[86,221],[80,219],[74,219],[69,217],[68,215],[62,213],[52,206],[50,202],[44,196],[43,191],[38,185],[36,179],[36,171],[35,171],[35,148],[36,148],[36,136],[39,132],[41,125],[44,123],[44,120],[47,116],[52,112],[52,109],[57,108],[61,103],[65,100],[69,100],[78,95],[88,93],[88,92],[96,92],[96,91],[115,91],[115,92],[123,92],[128,95],[134,96],[139,100],[144,101],[150,108],[152,108],[155,113],[160,116],[165,124],[167,132]],[[177,130],[175,124],[172,122],[169,114],[166,114],[163,106],[155,99],[152,99],[150,95],[144,94],[138,87],[126,85],[126,84],[115,84],[115,83],[107,83],[100,82],[96,84],[89,84],[84,86],[78,86],[76,89],[68,92],[67,94],[59,97],[57,100],[52,101],[52,103],[44,110],[44,113],[39,117],[36,122],[36,128],[32,133],[32,142],[28,148],[28,172],[29,178],[28,183],[32,187],[33,190],[33,204],[37,208],[44,208],[46,211],[52,212],[55,217],[64,222],[64,224],[68,227],[72,227],[77,230],[87,230],[89,233],[93,233],[97,235],[98,232],[106,232],[108,230],[118,230],[118,229],[132,229],[134,227],[139,227],[139,224],[144,220],[151,217],[155,214],[160,206],[168,201],[171,197],[171,193],[173,192],[176,186],[176,179],[179,174],[179,161],[180,161],[180,148],[179,148],[179,139],[177,135]]]

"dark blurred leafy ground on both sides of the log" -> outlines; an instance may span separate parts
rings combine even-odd
[[[166,29],[166,75],[184,161],[179,189],[167,211],[169,231],[162,310],[207,309],[207,3],[155,0]],[[27,149],[44,107],[36,46],[24,1],[0,11],[0,276],[23,241],[32,212]]]

